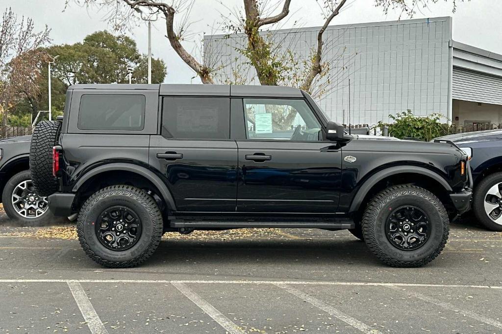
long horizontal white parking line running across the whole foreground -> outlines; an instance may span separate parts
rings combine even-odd
[[[355,285],[355,286],[417,286],[502,289],[500,285],[463,284],[421,284],[421,283],[379,283],[379,282],[324,282],[324,281],[245,281],[245,280],[164,280],[164,279],[0,279],[0,283],[188,283],[188,284],[300,284],[300,285]]]

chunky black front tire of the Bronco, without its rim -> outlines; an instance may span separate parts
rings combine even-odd
[[[425,243],[414,250],[401,250],[386,236],[385,224],[394,208],[415,206],[421,209],[431,223],[431,232]],[[362,217],[364,242],[382,262],[392,267],[421,267],[434,260],[448,240],[448,213],[431,192],[416,186],[394,186],[376,195]]]

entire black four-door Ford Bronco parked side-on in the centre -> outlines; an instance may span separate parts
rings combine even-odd
[[[75,85],[33,134],[33,184],[78,213],[107,267],[149,258],[163,233],[348,229],[383,262],[418,267],[469,209],[467,156],[451,142],[355,139],[305,92],[225,85]]]

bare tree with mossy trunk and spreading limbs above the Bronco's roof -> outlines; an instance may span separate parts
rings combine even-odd
[[[184,36],[190,26],[190,10],[194,6],[194,0],[66,0],[76,2],[84,6],[97,6],[108,9],[107,20],[115,29],[124,29],[138,20],[135,11],[144,10],[150,14],[161,14],[166,21],[166,37],[170,45],[179,57],[195,71],[203,83],[214,83],[214,75],[217,68],[228,64],[211,64],[207,61],[199,62],[192,53],[182,45]],[[339,15],[341,10],[347,7],[346,0],[316,0],[322,9],[324,24],[317,35],[317,46],[313,48],[308,59],[298,59],[293,51],[286,51],[284,47],[278,47],[272,39],[267,38],[267,29],[275,27],[290,17],[291,0],[242,0],[244,13],[233,13],[237,17],[236,22],[229,20],[223,25],[230,33],[243,33],[246,36],[246,44],[238,51],[248,60],[248,63],[256,70],[257,77],[262,85],[280,85],[285,82],[295,82],[295,86],[309,92],[322,92],[323,83],[320,77],[326,76],[333,70],[333,59],[323,59],[323,49],[326,48],[323,34],[332,20]],[[439,0],[373,0],[371,3],[381,7],[385,13],[390,9],[401,10],[402,14],[413,16],[420,7],[427,7],[429,3],[437,3]],[[453,3],[453,10],[457,2],[464,0],[444,0]],[[469,0],[466,0],[469,1]],[[365,6],[361,5],[361,6]],[[178,27],[175,27],[175,16]],[[345,59],[343,59],[345,61]],[[337,66],[337,74],[343,76],[346,64]],[[237,82],[245,81],[241,74],[237,74]],[[225,82],[232,80],[224,80]],[[329,80],[327,80],[329,81]],[[314,85],[316,87],[314,88]],[[319,86],[317,86],[319,85]],[[324,84],[325,85],[325,84]]]

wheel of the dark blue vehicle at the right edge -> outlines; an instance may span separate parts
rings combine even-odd
[[[476,218],[491,231],[502,231],[502,173],[484,178],[474,191]]]

